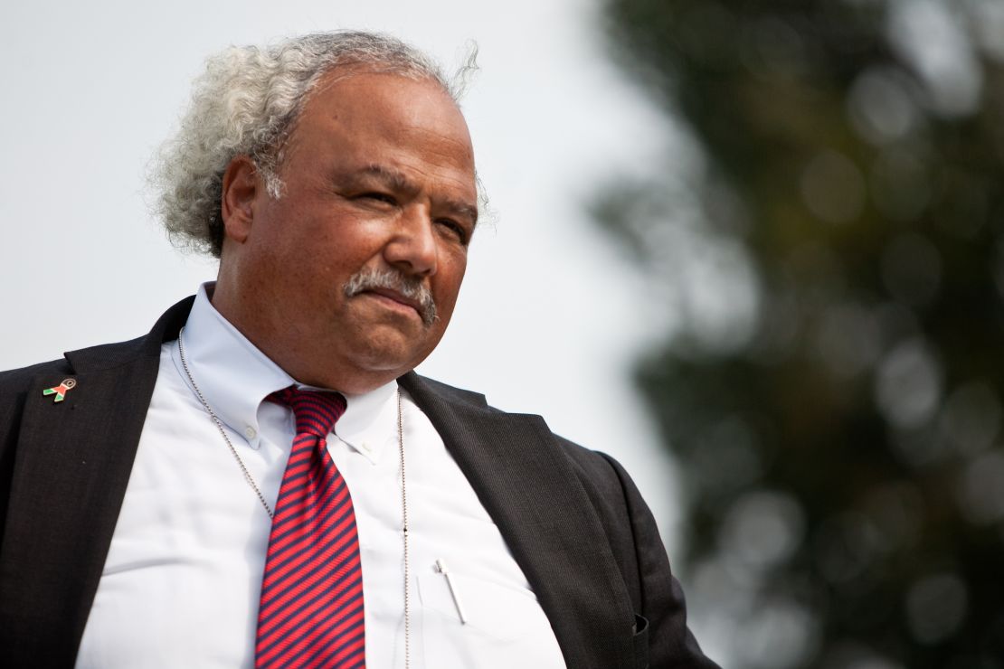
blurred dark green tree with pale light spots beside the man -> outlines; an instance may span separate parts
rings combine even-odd
[[[723,666],[1004,667],[1004,4],[606,0],[688,138],[596,219]],[[663,300],[660,302],[660,300]]]

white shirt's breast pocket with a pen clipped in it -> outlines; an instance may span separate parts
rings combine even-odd
[[[524,589],[450,573],[418,576],[426,667],[564,667],[550,621]],[[456,594],[464,612],[454,600]]]

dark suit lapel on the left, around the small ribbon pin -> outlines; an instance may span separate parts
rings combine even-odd
[[[25,400],[0,574],[8,612],[37,613],[53,665],[72,664],[114,532],[165,337],[191,301],[145,338],[67,353],[72,373],[34,379]],[[45,388],[71,378],[60,402]],[[28,606],[30,604],[30,606]],[[36,660],[39,658],[35,658]],[[37,666],[45,666],[42,662]]]

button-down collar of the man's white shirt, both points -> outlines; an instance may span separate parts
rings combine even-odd
[[[199,287],[182,332],[185,358],[217,417],[257,449],[258,408],[262,401],[292,384],[316,388],[297,383],[216,310],[209,299],[215,285],[208,282]],[[172,358],[179,375],[191,388],[177,347]],[[345,395],[345,413],[335,424],[338,438],[373,463],[397,436],[396,387],[397,382],[392,381],[363,394]]]

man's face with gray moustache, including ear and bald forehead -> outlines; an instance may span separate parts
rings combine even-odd
[[[273,199],[249,159],[228,169],[214,305],[304,383],[364,392],[414,368],[450,322],[477,219],[456,104],[429,80],[330,77],[279,178]]]

